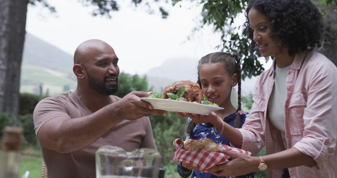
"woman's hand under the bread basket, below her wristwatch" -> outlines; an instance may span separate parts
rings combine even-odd
[[[213,172],[212,174],[218,177],[237,177],[254,171],[259,171],[257,166],[259,165],[260,159],[258,157],[235,153],[224,149],[220,149],[219,152],[230,156],[231,160],[225,164],[207,169],[205,172]]]

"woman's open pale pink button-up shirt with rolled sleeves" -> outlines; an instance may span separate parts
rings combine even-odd
[[[253,106],[242,129],[242,149],[256,155],[265,145],[267,154],[285,149],[282,135],[268,118],[268,101],[274,85],[274,66],[264,71],[254,87]],[[337,68],[324,55],[302,52],[287,71],[285,137],[287,148],[312,156],[314,165],[289,168],[292,178],[337,177]],[[268,171],[281,177],[283,169]]]

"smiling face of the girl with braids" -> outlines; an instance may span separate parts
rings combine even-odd
[[[224,107],[231,104],[231,89],[237,84],[238,75],[235,73],[233,76],[229,76],[224,65],[220,62],[202,64],[200,66],[200,82],[207,99]]]

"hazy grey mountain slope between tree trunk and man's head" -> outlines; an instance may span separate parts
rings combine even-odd
[[[52,44],[26,33],[22,63],[72,73],[73,57]]]

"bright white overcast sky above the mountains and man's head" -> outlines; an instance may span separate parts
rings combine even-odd
[[[193,40],[187,40],[201,19],[202,9],[189,1],[175,7],[166,5],[170,13],[167,19],[162,19],[158,11],[148,14],[144,7],[134,7],[130,1],[118,1],[120,10],[112,12],[111,19],[92,17],[92,9],[96,7],[85,7],[77,0],[49,2],[56,8],[56,14],[40,5],[28,6],[28,33],[71,55],[85,40],[104,40],[115,49],[121,71],[130,74],[144,74],[172,58],[197,62],[202,56],[219,51],[215,47],[221,44],[221,34],[208,26],[197,32]],[[153,7],[157,10],[157,6]],[[236,22],[242,25],[243,19]]]

